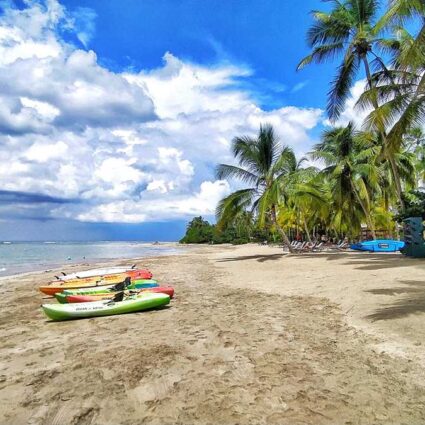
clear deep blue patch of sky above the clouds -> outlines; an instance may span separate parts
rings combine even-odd
[[[170,51],[182,60],[245,65],[254,75],[242,87],[264,108],[323,107],[332,64],[296,71],[308,54],[306,31],[318,0],[96,0],[63,1],[93,11],[88,43],[105,66],[151,69]],[[303,89],[305,88],[305,90]]]

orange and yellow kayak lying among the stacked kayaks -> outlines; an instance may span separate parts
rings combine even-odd
[[[54,280],[48,285],[40,286],[39,289],[46,295],[55,295],[57,292],[62,292],[65,289],[90,288],[96,286],[115,285],[124,281],[127,277],[135,279],[150,279],[152,273],[149,270],[131,270],[125,273],[117,273],[105,276],[93,276],[81,279],[69,279],[66,281]]]

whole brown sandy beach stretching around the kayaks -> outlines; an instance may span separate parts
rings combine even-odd
[[[137,264],[170,307],[54,323],[54,272],[0,281],[1,425],[425,423],[423,260],[247,245]]]

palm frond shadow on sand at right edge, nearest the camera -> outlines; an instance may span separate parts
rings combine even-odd
[[[405,286],[365,291],[375,295],[403,295],[403,298],[393,304],[378,308],[374,313],[366,316],[366,319],[375,322],[399,319],[414,313],[425,313],[425,281],[402,280],[400,284]]]

